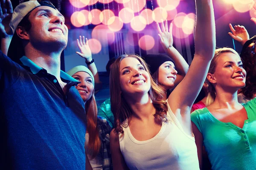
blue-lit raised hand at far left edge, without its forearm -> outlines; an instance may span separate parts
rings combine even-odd
[[[0,3],[0,35],[2,38],[12,36],[12,30],[9,23],[12,18],[12,3],[11,0],[1,0]]]

